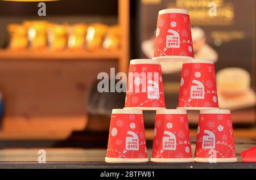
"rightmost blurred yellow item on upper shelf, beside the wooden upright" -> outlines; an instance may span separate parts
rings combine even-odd
[[[110,27],[102,47],[108,50],[118,50],[121,45],[121,28],[119,25]]]

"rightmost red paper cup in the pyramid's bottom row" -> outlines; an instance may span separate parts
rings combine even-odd
[[[230,110],[201,110],[196,137],[196,162],[236,162]]]

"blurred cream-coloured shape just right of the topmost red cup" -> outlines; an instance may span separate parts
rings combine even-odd
[[[194,57],[197,59],[212,59],[217,62],[218,53],[207,44],[205,32],[200,27],[191,28]]]

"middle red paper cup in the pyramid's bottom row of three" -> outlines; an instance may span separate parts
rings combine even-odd
[[[193,161],[186,110],[156,111],[151,161]]]

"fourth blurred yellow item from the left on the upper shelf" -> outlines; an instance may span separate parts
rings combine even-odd
[[[74,24],[70,26],[68,35],[68,48],[76,50],[84,49],[86,32],[86,24]]]

